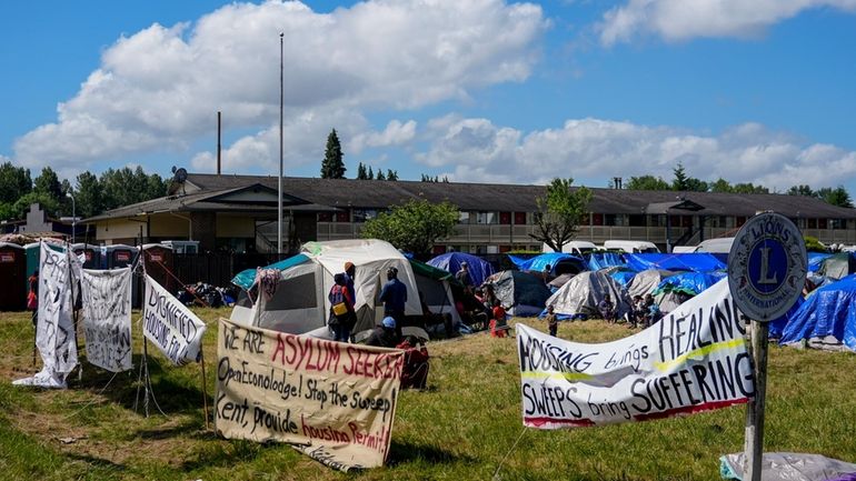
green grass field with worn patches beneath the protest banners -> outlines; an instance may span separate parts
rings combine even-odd
[[[209,322],[210,407],[215,321],[229,311],[197,312]],[[560,337],[583,342],[628,332],[600,321],[559,327]],[[388,465],[346,474],[287,445],[219,439],[205,428],[200,365],[173,368],[157,352],[149,352],[149,371],[166,415],[153,405],[149,418],[133,409],[139,354],[135,371],[115,378],[81,355],[82,380],[72,373],[68,390],[12,387],[37,370],[32,335],[29,313],[0,313],[0,480],[714,480],[719,455],[743,449],[743,407],[525,430],[515,341],[479,333],[429,344],[429,389],[402,393]],[[135,324],[135,352],[141,349]],[[856,462],[856,355],[772,347],[769,372],[766,450]]]

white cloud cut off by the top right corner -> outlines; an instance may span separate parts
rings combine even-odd
[[[606,12],[597,30],[605,46],[640,34],[656,34],[667,41],[749,38],[815,8],[856,11],[856,0],[629,0]]]

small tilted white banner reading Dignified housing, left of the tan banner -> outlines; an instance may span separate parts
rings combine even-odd
[[[176,365],[198,362],[206,324],[146,274],[142,333]]]

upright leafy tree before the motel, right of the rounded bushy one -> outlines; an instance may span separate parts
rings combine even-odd
[[[591,191],[586,187],[571,190],[573,183],[574,179],[553,179],[547,186],[547,193],[535,199],[538,206],[535,216],[537,233],[529,237],[556,252],[561,252],[561,248],[577,236],[591,202]]]

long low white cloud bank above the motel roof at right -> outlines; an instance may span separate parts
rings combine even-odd
[[[838,186],[856,177],[856,152],[807,144],[757,123],[717,136],[598,119],[568,120],[560,129],[528,134],[454,116],[429,126],[436,128],[435,140],[417,159],[450,168],[447,174],[457,181],[544,184],[573,177],[577,183],[601,187],[613,177],[670,180],[678,162],[701,180],[723,178],[779,191],[803,183]]]

